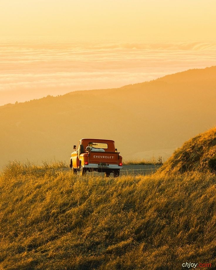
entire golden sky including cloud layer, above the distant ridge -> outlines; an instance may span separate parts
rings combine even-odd
[[[10,0],[0,106],[216,65],[215,0]]]

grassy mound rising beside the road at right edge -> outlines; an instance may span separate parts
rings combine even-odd
[[[159,171],[216,173],[216,127],[185,142]]]

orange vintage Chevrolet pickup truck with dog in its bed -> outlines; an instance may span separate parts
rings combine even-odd
[[[122,168],[122,156],[119,155],[112,140],[81,139],[78,149],[74,145],[71,153],[70,168],[73,173],[80,171],[85,175],[87,171],[104,172],[106,177],[113,173],[118,177]]]

